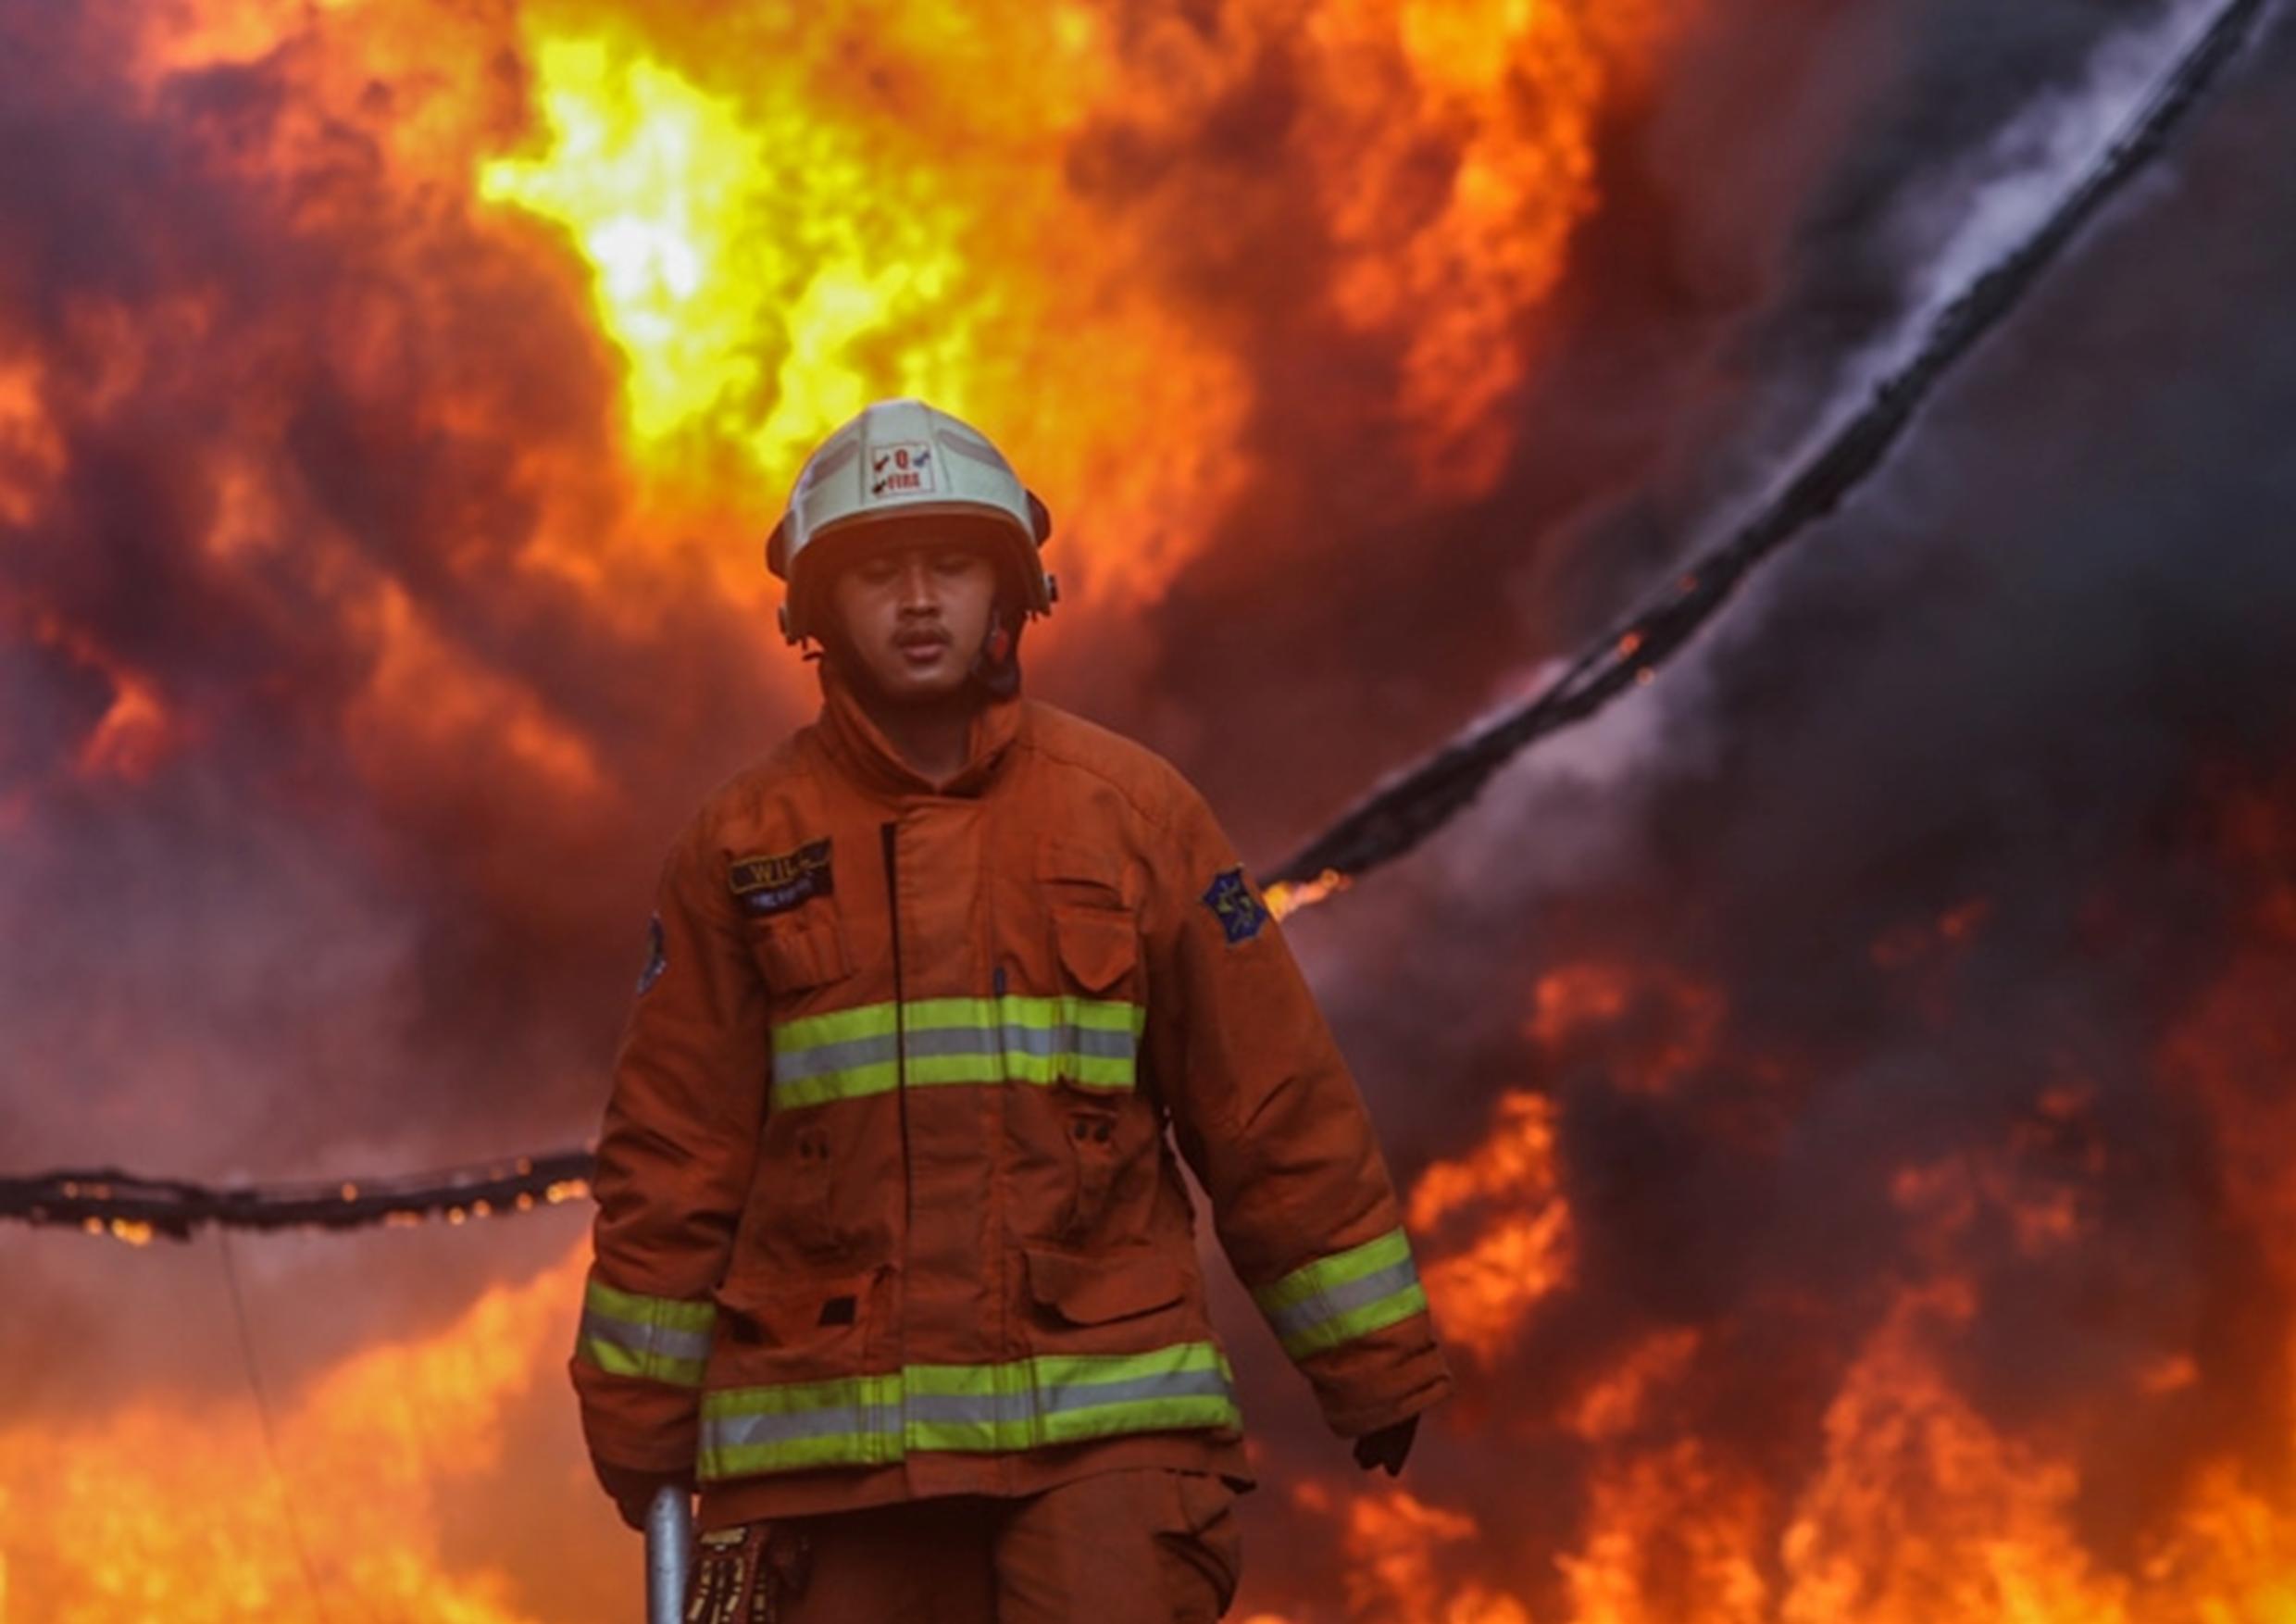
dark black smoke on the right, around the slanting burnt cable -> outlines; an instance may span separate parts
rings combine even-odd
[[[1573,544],[1513,565],[1557,604],[1520,648],[1568,650],[1775,471],[1798,413],[1919,303],[1906,250],[1952,230],[1938,198],[2014,172],[2018,119],[2030,136],[2112,30],[2158,16],[1899,9],[1901,51],[1775,250],[1770,296],[1708,324],[1665,457]],[[2225,838],[2243,797],[2291,820],[2291,83],[2282,28],[1639,714],[1626,701],[1557,740],[1449,850],[1297,928],[1394,1142],[1458,1153],[1504,1086],[1557,1103],[1575,1284],[1472,1383],[1518,1443],[1463,1429],[1419,1486],[1483,1523],[1456,1569],[1536,1617],[1568,1615],[1554,1557],[1587,1532],[1598,1468],[1564,1415],[1665,1330],[1701,1351],[1619,1454],[1701,1438],[1763,1484],[1773,1603],[1828,1403],[1892,1305],[1947,1275],[1975,1312],[1931,1328],[1938,1362],[2014,1447],[2071,1461],[2069,1528],[2096,1573],[2135,1583],[2206,1463],[2266,1495],[2291,1466],[2280,1236],[2236,1190],[2218,1103],[2167,1059],[2236,958],[2296,969],[2257,923],[2289,882],[2287,834],[2245,859]],[[1525,443],[1566,409],[1531,402]],[[1334,673],[1327,703],[1350,694]],[[1722,990],[1711,1059],[1635,1086],[1665,1008],[1623,1018],[1607,1052],[1529,1041],[1531,981],[1580,962]],[[2287,1015],[2266,1022],[2257,1043],[2285,1052]],[[1899,1183],[1938,1167],[2000,1183],[1940,1229]],[[2020,1201],[2062,1201],[2078,1238],[2032,1243]],[[2174,1358],[2195,1362],[2188,1387],[2131,1397]],[[1915,1507],[1922,1472],[1901,1468]],[[1671,1599],[1683,1550],[1637,1560],[1644,1594]]]

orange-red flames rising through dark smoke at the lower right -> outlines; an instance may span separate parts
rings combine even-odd
[[[2296,845],[2271,797],[2229,818],[2239,861],[2259,875],[2252,933],[2158,1057],[2161,1086],[2206,1103],[2232,1192],[2271,1247],[2275,1293],[2252,1305],[2255,1355],[2296,1369],[2296,1201],[2287,1151],[2296,1112],[2285,988],[2296,967]],[[2243,850],[2245,848],[2245,850]],[[1986,905],[1892,930],[1883,976],[1956,951]],[[1924,990],[1926,1004],[1931,995]],[[1711,988],[1619,962],[1564,965],[1531,997],[1529,1034],[1552,1064],[1605,1054],[1623,1098],[1649,1098],[1708,1064],[1724,1029]],[[1589,1047],[1589,1043],[1593,1047]],[[2144,1482],[2151,1516],[2122,1548],[2096,1544],[2089,1482],[2099,1436],[2165,1438],[2252,1371],[2225,1348],[2156,1339],[2154,1353],[2080,1385],[2060,1420],[2011,1429],[1968,1390],[1961,1348],[1981,1330],[1981,1259],[2050,1261],[2110,1245],[2096,1091],[2078,1073],[2048,1082],[1998,1146],[1908,1160],[1887,1197],[1903,1224],[1903,1273],[1862,1344],[1825,1351],[1823,1305],[1777,1296],[1777,1325],[1660,1325],[1621,1358],[1541,1387],[1513,1362],[1541,1316],[1568,1312],[1582,1261],[1561,1194],[1548,1096],[1499,1103],[1483,1144],[1426,1169],[1410,1194],[1424,1273],[1446,1341],[1465,1367],[1506,1371],[1474,1390],[1465,1436],[1520,1454],[1511,1488],[1442,1502],[1348,1479],[1309,1479],[1290,1500],[1345,1557],[1350,1617],[1407,1624],[2278,1624],[2296,1617],[2296,1514],[2285,1479],[2229,1449],[2170,1482]],[[2245,1318],[2245,1314],[2243,1314]],[[2167,1316],[2165,1323],[2177,1323]],[[1692,1394],[1745,1381],[1743,1344],[1798,1348],[1777,1376],[1830,1369],[1809,1431],[1779,1406],[1754,1420],[1759,1445],[1699,1426]],[[1798,1369],[1807,1367],[1807,1369]],[[1756,1376],[1756,1383],[1761,1376]],[[2073,1376],[2066,1376],[2071,1383]],[[1779,1390],[1784,1392],[1784,1387]],[[2282,1397],[2287,1406],[2296,1394]],[[2181,1420],[2179,1420],[2181,1417]],[[1708,1417],[1711,1424],[1711,1417]],[[1729,1431],[1736,1433],[1736,1426]],[[1793,1440],[1793,1443],[1789,1443]],[[2259,1440],[2262,1443],[2262,1440]],[[1779,1456],[1789,1454],[1791,1466]],[[1768,1456],[1768,1459],[1766,1459]],[[1545,1502],[1568,1461],[1577,1509],[1536,1562],[1486,1518],[1513,1523],[1515,1495]],[[2105,1461],[2110,1466],[2110,1461]],[[2089,1495],[2085,1500],[2085,1495]],[[1488,1544],[1486,1544],[1488,1541]],[[1552,1613],[1531,1599],[1550,1596]],[[1286,1624],[1281,1599],[1254,1624]]]

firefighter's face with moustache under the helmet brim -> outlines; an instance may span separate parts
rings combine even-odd
[[[872,542],[829,581],[829,611],[879,694],[946,698],[964,685],[996,602],[996,565],[976,542]]]

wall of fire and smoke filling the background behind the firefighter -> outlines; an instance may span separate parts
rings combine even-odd
[[[813,707],[760,540],[921,393],[1058,515],[1031,691],[1265,864],[1628,662],[1286,926],[1463,1394],[1362,1477],[1215,1261],[1233,1617],[2291,1619],[2291,92],[2197,0],[7,5],[0,1174],[576,1146]],[[0,1617],[636,1617],[528,1194],[0,1227]]]

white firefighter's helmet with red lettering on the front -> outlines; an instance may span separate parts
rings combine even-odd
[[[1052,611],[1058,583],[1038,558],[1052,512],[1035,492],[978,430],[923,400],[879,400],[806,457],[790,510],[765,542],[765,567],[790,583],[781,606],[788,641],[820,634],[817,581],[838,551],[824,556],[822,542],[889,519],[960,521],[1008,558],[1024,616]]]

